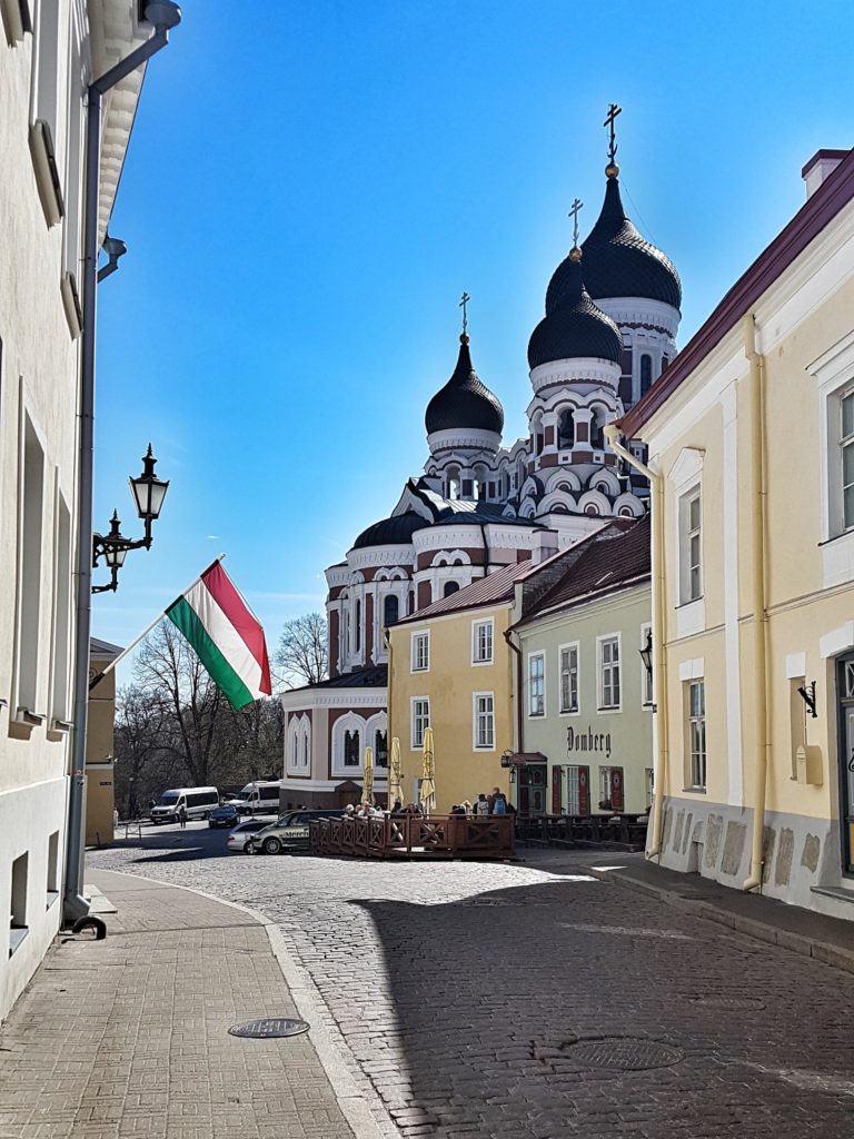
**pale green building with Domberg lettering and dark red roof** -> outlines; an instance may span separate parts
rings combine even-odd
[[[611,525],[516,588],[522,814],[643,814],[652,790],[648,516]]]

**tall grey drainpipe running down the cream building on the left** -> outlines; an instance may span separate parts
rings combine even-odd
[[[155,52],[165,48],[181,9],[169,0],[150,0],[145,18],[154,35],[89,85],[87,107],[85,199],[83,204],[83,328],[81,336],[80,441],[77,452],[77,604],[74,636],[74,728],[65,845],[65,920],[89,912],[83,898],[85,847],[87,715],[89,711],[89,638],[92,617],[92,473],[95,428],[95,333],[98,278],[98,191],[100,188],[101,104],[104,96]]]

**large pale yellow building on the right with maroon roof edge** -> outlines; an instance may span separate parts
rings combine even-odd
[[[804,177],[619,424],[652,489],[648,858],[854,917],[854,154]]]

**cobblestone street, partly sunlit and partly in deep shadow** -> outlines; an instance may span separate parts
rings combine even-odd
[[[614,855],[223,851],[191,827],[89,865],[274,920],[351,1074],[407,1139],[854,1133],[854,976],[584,874]]]

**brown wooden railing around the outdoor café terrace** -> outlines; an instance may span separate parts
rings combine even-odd
[[[510,858],[515,845],[509,814],[315,819],[309,833],[312,854],[355,858]]]

